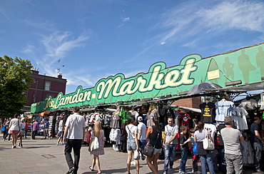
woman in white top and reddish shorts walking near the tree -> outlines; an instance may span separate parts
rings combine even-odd
[[[21,123],[18,117],[19,115],[15,114],[14,118],[11,119],[9,123],[9,134],[11,134],[12,137],[12,148],[16,148],[17,135],[19,134],[19,130],[21,128]]]

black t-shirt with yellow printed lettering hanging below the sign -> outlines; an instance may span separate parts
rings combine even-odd
[[[215,103],[201,103],[199,107],[201,111],[200,121],[213,123],[215,120]]]

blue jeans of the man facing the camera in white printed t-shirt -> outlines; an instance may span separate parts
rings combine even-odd
[[[173,161],[176,155],[176,144],[164,146],[164,172],[168,172],[168,165],[173,168]]]

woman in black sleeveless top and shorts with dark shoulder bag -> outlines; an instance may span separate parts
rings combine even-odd
[[[148,127],[146,138],[149,139],[149,144],[154,148],[152,157],[147,156],[148,168],[151,169],[152,173],[158,174],[158,156],[162,151],[161,143],[161,128],[159,126],[158,117],[153,117],[153,126]]]

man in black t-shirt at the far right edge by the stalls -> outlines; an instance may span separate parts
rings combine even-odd
[[[263,150],[263,144],[264,144],[264,141],[262,140],[260,136],[260,128],[258,126],[260,122],[261,122],[261,118],[254,117],[254,123],[252,123],[250,126],[250,142],[254,149],[255,170],[258,173],[262,172],[260,170],[260,158],[261,158],[261,151]]]

